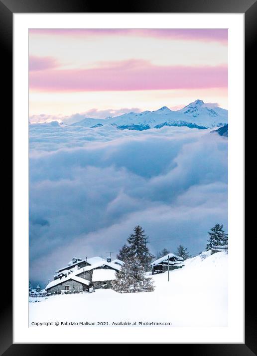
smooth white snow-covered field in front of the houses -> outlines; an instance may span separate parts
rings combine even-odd
[[[153,276],[155,290],[120,294],[94,293],[31,298],[32,322],[171,322],[178,326],[227,326],[228,255],[219,252],[189,259],[185,267]],[[37,302],[35,302],[37,300]],[[137,324],[138,325],[138,324]]]

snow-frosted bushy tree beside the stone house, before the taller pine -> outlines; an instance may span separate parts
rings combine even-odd
[[[129,257],[112,281],[112,287],[119,293],[152,292],[152,278],[145,276],[144,268],[136,257]]]

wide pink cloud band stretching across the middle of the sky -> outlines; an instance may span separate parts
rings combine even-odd
[[[227,88],[227,66],[157,66],[128,60],[99,68],[44,70],[29,74],[29,88],[40,91],[115,91]]]

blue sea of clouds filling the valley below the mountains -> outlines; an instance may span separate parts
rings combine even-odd
[[[30,278],[73,257],[116,256],[135,225],[153,254],[205,249],[228,219],[228,140],[210,130],[30,126]]]

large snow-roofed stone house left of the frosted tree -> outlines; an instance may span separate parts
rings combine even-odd
[[[46,292],[59,294],[62,290],[71,293],[89,291],[91,287],[94,289],[111,288],[111,281],[116,278],[115,273],[121,269],[121,266],[103,259],[99,261],[99,259],[90,259],[92,265],[88,263],[85,267],[76,266],[76,269],[73,267],[73,269],[64,270],[65,273],[59,276],[55,275],[55,279],[45,287]]]

